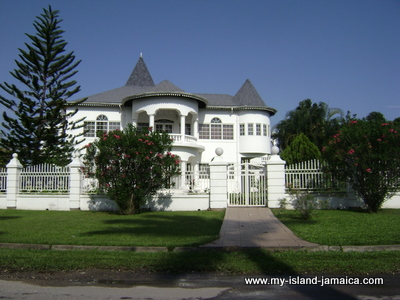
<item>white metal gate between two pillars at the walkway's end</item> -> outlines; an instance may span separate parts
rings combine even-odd
[[[249,162],[228,167],[229,206],[267,206],[264,165]]]

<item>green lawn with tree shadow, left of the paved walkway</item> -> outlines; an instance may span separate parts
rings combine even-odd
[[[0,210],[0,242],[94,246],[198,246],[218,238],[224,212]]]

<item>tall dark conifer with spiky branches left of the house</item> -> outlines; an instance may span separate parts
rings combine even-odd
[[[68,164],[74,145],[82,142],[68,134],[83,126],[83,119],[71,122],[77,112],[66,113],[67,99],[80,91],[71,77],[77,73],[73,52],[65,53],[58,11],[49,6],[34,22],[36,35],[27,34],[31,44],[19,49],[17,69],[10,72],[23,88],[4,82],[0,88],[9,94],[0,95],[0,103],[13,113],[3,113],[1,147],[11,158],[16,152],[23,164]],[[75,104],[83,102],[79,101]]]

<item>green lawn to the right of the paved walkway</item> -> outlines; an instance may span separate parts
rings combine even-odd
[[[312,220],[302,220],[294,210],[272,211],[298,237],[309,242],[332,246],[400,244],[400,209],[383,209],[376,214],[318,210]]]

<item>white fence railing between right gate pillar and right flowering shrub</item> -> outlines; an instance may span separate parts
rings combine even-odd
[[[296,190],[345,190],[346,183],[324,173],[318,159],[288,165],[285,168],[286,188]]]

